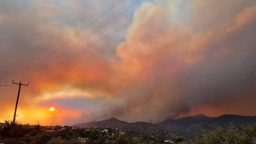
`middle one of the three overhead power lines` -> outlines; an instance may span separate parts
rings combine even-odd
[[[76,47],[79,43],[81,43],[82,41],[86,40],[88,37],[90,37],[91,35],[93,35],[94,33],[96,33],[97,31],[99,31],[102,27],[106,26],[107,24],[109,24],[110,22],[112,22],[114,19],[116,19],[118,16],[120,16],[121,14],[123,14],[126,10],[128,10],[129,8],[131,8],[132,6],[134,6],[136,3],[138,3],[140,0],[137,0],[135,3],[133,3],[130,7],[128,7],[127,9],[125,9],[122,13],[118,14],[116,17],[114,17],[113,19],[111,19],[109,22],[107,22],[106,24],[104,24],[103,26],[101,26],[99,29],[97,29],[96,31],[94,31],[93,33],[91,33],[90,35],[88,35],[86,38],[82,39],[81,41],[79,41],[78,43],[76,43],[75,45],[73,45],[71,48],[69,48],[68,50],[64,51],[64,53],[60,54],[59,56],[57,56],[56,58],[52,59],[52,61],[48,62],[47,64],[43,65],[42,67],[40,67],[39,69],[37,69],[36,71],[30,73],[29,75],[27,75],[25,78],[23,78],[22,80],[28,78],[29,76],[31,76],[32,74],[38,72],[39,70],[41,70],[42,68],[44,68],[46,65],[52,63],[53,61],[55,61],[55,59],[61,57],[63,54],[67,53],[69,50],[71,50],[72,48]]]

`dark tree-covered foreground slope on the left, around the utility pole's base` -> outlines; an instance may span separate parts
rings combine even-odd
[[[75,128],[65,126],[30,126],[16,123],[14,138],[10,139],[12,123],[6,121],[0,128],[0,143],[4,144],[158,144],[155,138],[135,131],[119,133],[119,130]],[[47,131],[54,129],[54,131]]]

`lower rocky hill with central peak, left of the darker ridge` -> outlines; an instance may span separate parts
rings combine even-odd
[[[160,126],[154,125],[152,123],[148,123],[148,122],[129,123],[125,121],[120,121],[116,118],[110,118],[108,120],[103,120],[103,121],[79,123],[72,126],[84,127],[84,128],[109,127],[109,128],[118,128],[120,130],[133,130],[133,131],[138,131],[140,133],[158,137],[158,138],[173,138],[177,136],[176,134],[171,133],[169,130],[163,129]]]

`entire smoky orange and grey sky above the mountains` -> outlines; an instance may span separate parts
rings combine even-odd
[[[255,0],[163,0],[143,14],[158,0],[118,2],[0,1],[0,85],[30,82],[18,122],[256,115]],[[0,87],[1,122],[17,91]]]

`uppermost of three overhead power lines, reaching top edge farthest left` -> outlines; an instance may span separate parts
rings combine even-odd
[[[87,29],[89,26],[91,26],[94,22],[98,21],[98,19],[100,19],[102,16],[104,16],[105,14],[107,14],[111,9],[113,9],[116,5],[118,5],[122,0],[120,0],[119,2],[117,2],[113,7],[111,7],[109,10],[107,10],[104,14],[102,14],[100,17],[98,17],[97,19],[95,19],[91,24],[89,24],[88,26],[86,26],[83,30],[79,31],[77,34],[73,35],[72,37],[70,37],[68,39],[68,41],[66,41],[65,43],[63,43],[60,47],[58,47],[57,49],[55,49],[52,53],[50,53],[49,55],[47,55],[46,57],[44,57],[43,59],[41,59],[39,62],[37,62],[36,64],[34,64],[33,66],[31,66],[28,70],[24,71],[23,73],[21,73],[20,75],[18,75],[15,79],[17,79],[18,77],[20,77],[21,75],[23,75],[24,73],[28,72],[29,70],[31,70],[34,66],[36,66],[37,64],[39,64],[40,62],[44,61],[44,59],[46,59],[47,57],[49,57],[50,55],[52,55],[55,51],[57,51],[58,49],[60,49],[61,47],[63,47],[65,44],[67,44],[71,39],[73,39],[74,37],[76,37],[78,34],[80,34],[81,32],[83,32],[85,29]]]

